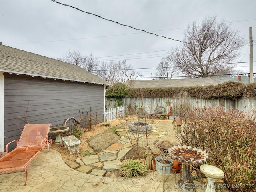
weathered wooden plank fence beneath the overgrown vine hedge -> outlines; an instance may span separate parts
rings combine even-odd
[[[144,108],[148,113],[153,112],[156,107],[162,106],[169,113],[170,106],[174,106],[174,102],[178,102],[178,98],[135,98],[125,97],[122,98],[123,106],[131,106],[132,108]],[[201,98],[189,98],[188,102],[191,103],[192,108],[202,108],[204,106],[222,106],[227,111],[231,108],[238,109],[247,113],[252,110],[256,110],[256,98],[239,98],[235,100],[231,99],[201,99]],[[114,108],[117,106],[117,102],[114,98],[106,98],[105,108]],[[175,110],[172,108],[172,110]],[[173,112],[173,111],[172,111]]]

